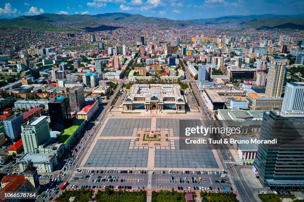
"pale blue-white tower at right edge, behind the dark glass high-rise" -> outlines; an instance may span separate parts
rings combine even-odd
[[[281,111],[304,112],[304,82],[287,83]]]

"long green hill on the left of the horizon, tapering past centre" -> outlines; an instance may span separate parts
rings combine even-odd
[[[24,27],[38,31],[76,31],[76,29],[59,29],[55,23],[70,23],[73,27],[93,27],[108,22],[133,22],[163,25],[190,25],[195,24],[187,20],[171,20],[167,18],[146,17],[129,13],[103,13],[96,15],[63,15],[43,13],[33,16],[20,16],[13,19],[1,19],[0,27]],[[112,29],[112,28],[111,28]]]

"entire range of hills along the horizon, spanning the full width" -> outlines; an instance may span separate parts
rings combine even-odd
[[[34,16],[20,16],[13,19],[0,19],[1,27],[24,27],[38,31],[79,31],[81,30],[104,30],[109,22],[130,22],[130,23],[148,23],[159,25],[214,25],[214,24],[236,24],[250,26],[254,29],[302,29],[304,25],[304,14],[299,15],[233,15],[209,19],[193,20],[171,20],[168,18],[147,17],[139,14],[130,13],[103,13],[96,15],[63,15],[54,13],[44,13]],[[58,28],[57,24],[65,24],[67,28]],[[99,27],[99,28],[97,28]],[[90,29],[92,28],[92,29]],[[108,27],[109,30],[113,29]]]

